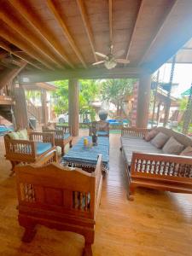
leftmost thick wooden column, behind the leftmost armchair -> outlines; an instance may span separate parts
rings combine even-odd
[[[21,84],[14,86],[15,96],[15,125],[16,129],[24,129],[28,126],[27,108],[26,108],[26,95],[25,90]]]

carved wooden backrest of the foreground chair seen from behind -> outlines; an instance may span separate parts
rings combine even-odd
[[[101,165],[99,158],[96,171],[92,173],[71,170],[55,163],[16,166],[19,208],[94,218]]]

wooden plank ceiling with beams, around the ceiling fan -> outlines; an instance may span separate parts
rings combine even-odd
[[[192,37],[191,9],[188,0],[0,0],[0,70],[24,60],[32,82],[153,72]],[[130,63],[93,67],[111,44]]]

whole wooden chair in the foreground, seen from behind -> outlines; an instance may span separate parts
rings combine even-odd
[[[16,166],[19,223],[25,228],[22,241],[30,242],[37,224],[84,236],[84,255],[92,255],[96,212],[102,192],[102,155],[95,172],[64,167]]]

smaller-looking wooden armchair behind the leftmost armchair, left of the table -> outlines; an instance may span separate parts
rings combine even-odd
[[[42,126],[43,132],[51,132],[55,137],[55,146],[61,147],[61,154],[65,154],[65,146],[69,143],[69,147],[72,148],[72,129],[71,126],[55,125],[55,129],[50,129],[48,126]]]

